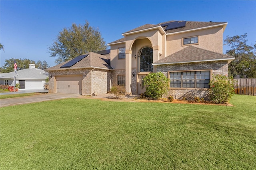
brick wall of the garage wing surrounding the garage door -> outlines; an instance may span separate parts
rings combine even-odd
[[[82,95],[103,94],[110,91],[112,71],[102,69],[66,69],[49,71],[49,93],[54,93],[54,77],[58,75],[82,75]],[[93,80],[93,81],[92,81]]]

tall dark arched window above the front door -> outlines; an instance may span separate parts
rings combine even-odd
[[[138,72],[153,71],[153,49],[143,47],[138,53]]]

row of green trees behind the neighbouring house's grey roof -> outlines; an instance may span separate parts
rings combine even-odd
[[[17,63],[17,70],[22,70],[22,69],[28,69],[29,64],[35,64],[36,68],[38,69],[47,69],[50,67],[50,65],[47,64],[46,61],[37,61],[35,62],[34,60],[30,59],[6,59],[4,66],[0,67],[0,72],[1,73],[10,73],[14,71],[14,60]]]

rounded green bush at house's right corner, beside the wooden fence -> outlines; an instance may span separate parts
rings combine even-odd
[[[210,85],[210,100],[214,103],[226,103],[235,94],[234,79],[225,75],[213,75]]]

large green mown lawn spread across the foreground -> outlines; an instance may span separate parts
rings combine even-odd
[[[256,97],[234,107],[62,99],[1,108],[1,169],[255,169]]]

